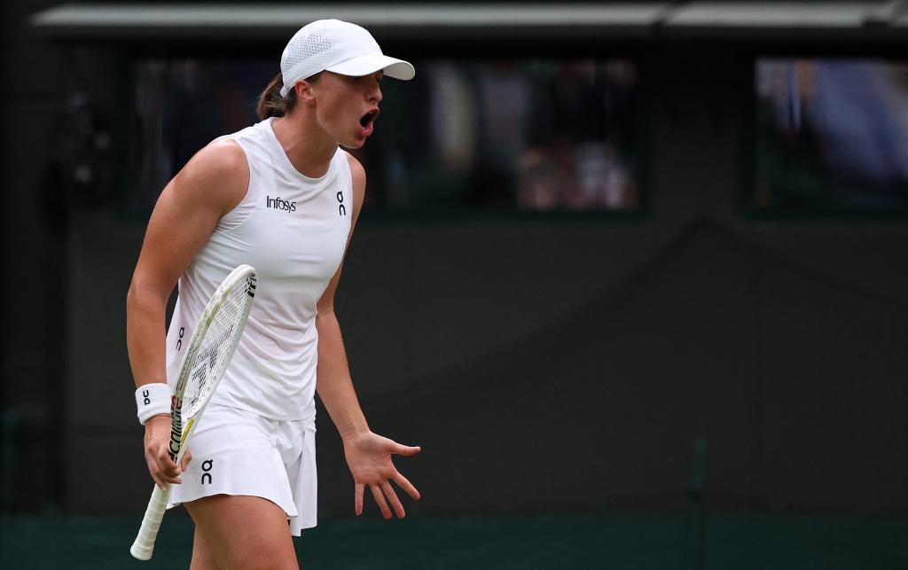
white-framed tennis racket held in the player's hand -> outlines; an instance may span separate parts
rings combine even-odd
[[[186,346],[183,366],[171,397],[170,454],[177,465],[183,460],[192,428],[202,418],[202,412],[240,341],[249,310],[252,309],[255,281],[255,270],[248,265],[232,270],[202,310],[199,323]],[[154,539],[158,536],[168,497],[170,486],[167,490],[154,486],[139,535],[129,549],[133,557],[139,560],[152,557]]]

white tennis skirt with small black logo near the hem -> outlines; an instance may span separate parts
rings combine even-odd
[[[291,535],[316,525],[315,418],[277,420],[210,404],[189,439],[192,461],[167,508],[212,495],[261,496],[280,506]]]

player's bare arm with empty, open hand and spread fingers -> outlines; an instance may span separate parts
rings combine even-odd
[[[353,220],[347,238],[349,245],[366,193],[366,172],[355,158],[348,155],[348,159],[353,175]],[[355,486],[356,514],[362,513],[362,497],[365,487],[368,486],[381,509],[382,516],[391,517],[388,506],[390,502],[397,516],[403,518],[405,516],[403,505],[390,486],[390,481],[394,481],[414,499],[419,499],[419,491],[406,477],[400,475],[390,457],[392,454],[415,455],[419,453],[419,447],[402,446],[387,437],[374,434],[366,423],[366,417],[362,413],[350,379],[347,353],[341,338],[341,326],[334,315],[334,291],[337,290],[340,279],[341,268],[338,268],[319,300],[318,315],[315,318],[315,327],[319,331],[319,366],[316,371],[319,397],[343,440],[344,456],[347,457],[347,465],[350,467]]]

